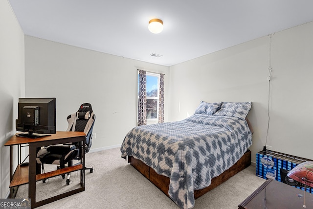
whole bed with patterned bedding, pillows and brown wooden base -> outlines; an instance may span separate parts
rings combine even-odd
[[[134,127],[121,145],[121,157],[180,208],[250,164],[251,102],[207,103],[175,122]]]

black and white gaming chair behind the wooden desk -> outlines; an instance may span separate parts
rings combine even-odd
[[[80,106],[76,113],[67,116],[67,131],[81,131],[86,134],[85,153],[89,152],[91,147],[92,129],[95,121],[95,115],[92,111],[91,104],[84,103]],[[56,164],[59,165],[57,169],[65,168],[65,165],[72,166],[73,160],[80,160],[79,156],[79,142],[51,145],[42,148],[37,153],[37,163],[42,164],[43,172],[45,172],[44,164]],[[93,172],[92,167],[85,167],[85,170]],[[65,179],[65,174],[62,175]],[[43,180],[47,182],[48,179]],[[67,173],[67,185],[70,185],[70,173]]]

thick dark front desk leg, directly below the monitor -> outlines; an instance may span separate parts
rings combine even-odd
[[[28,167],[28,198],[31,199],[31,208],[36,203],[36,146],[29,144],[29,167]]]

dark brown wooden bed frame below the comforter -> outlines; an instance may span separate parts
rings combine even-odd
[[[156,187],[158,187],[164,194],[168,195],[168,189],[170,185],[170,178],[162,176],[156,173],[154,169],[146,165],[140,160],[135,159],[133,156],[128,156],[128,163],[137,169],[143,176],[145,176],[150,182],[152,182]],[[212,179],[210,186],[203,189],[194,190],[195,199],[202,196],[206,192],[212,190],[213,188],[221,185],[227,181],[230,177],[234,176],[238,172],[244,170],[251,164],[251,151],[247,150],[241,159],[228,170],[225,170],[221,175]]]

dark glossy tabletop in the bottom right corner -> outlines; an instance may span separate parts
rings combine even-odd
[[[304,209],[304,190],[268,179],[246,198],[238,209]],[[305,193],[307,209],[313,209],[313,194]]]

